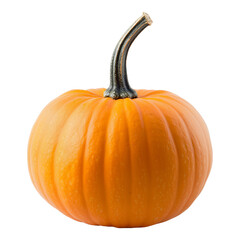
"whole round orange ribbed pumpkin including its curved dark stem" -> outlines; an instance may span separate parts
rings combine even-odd
[[[208,129],[188,102],[167,91],[133,90],[129,47],[151,19],[143,14],[113,53],[106,89],[72,90],[33,126],[28,165],[42,197],[80,222],[149,226],[185,211],[212,164]]]

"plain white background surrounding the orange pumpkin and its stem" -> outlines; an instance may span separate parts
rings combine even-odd
[[[213,167],[182,215],[147,228],[76,222],[45,202],[27,168],[31,127],[70,89],[107,87],[113,49],[146,11],[128,57],[136,89],[185,98],[205,119]],[[240,239],[240,2],[0,1],[1,239]]]

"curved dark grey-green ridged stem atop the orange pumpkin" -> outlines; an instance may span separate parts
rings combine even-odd
[[[151,25],[152,20],[147,13],[143,15],[127,30],[118,42],[111,61],[110,86],[104,92],[104,97],[111,97],[115,100],[120,98],[136,98],[137,93],[133,90],[127,77],[126,60],[128,50],[138,36],[147,26]]]

